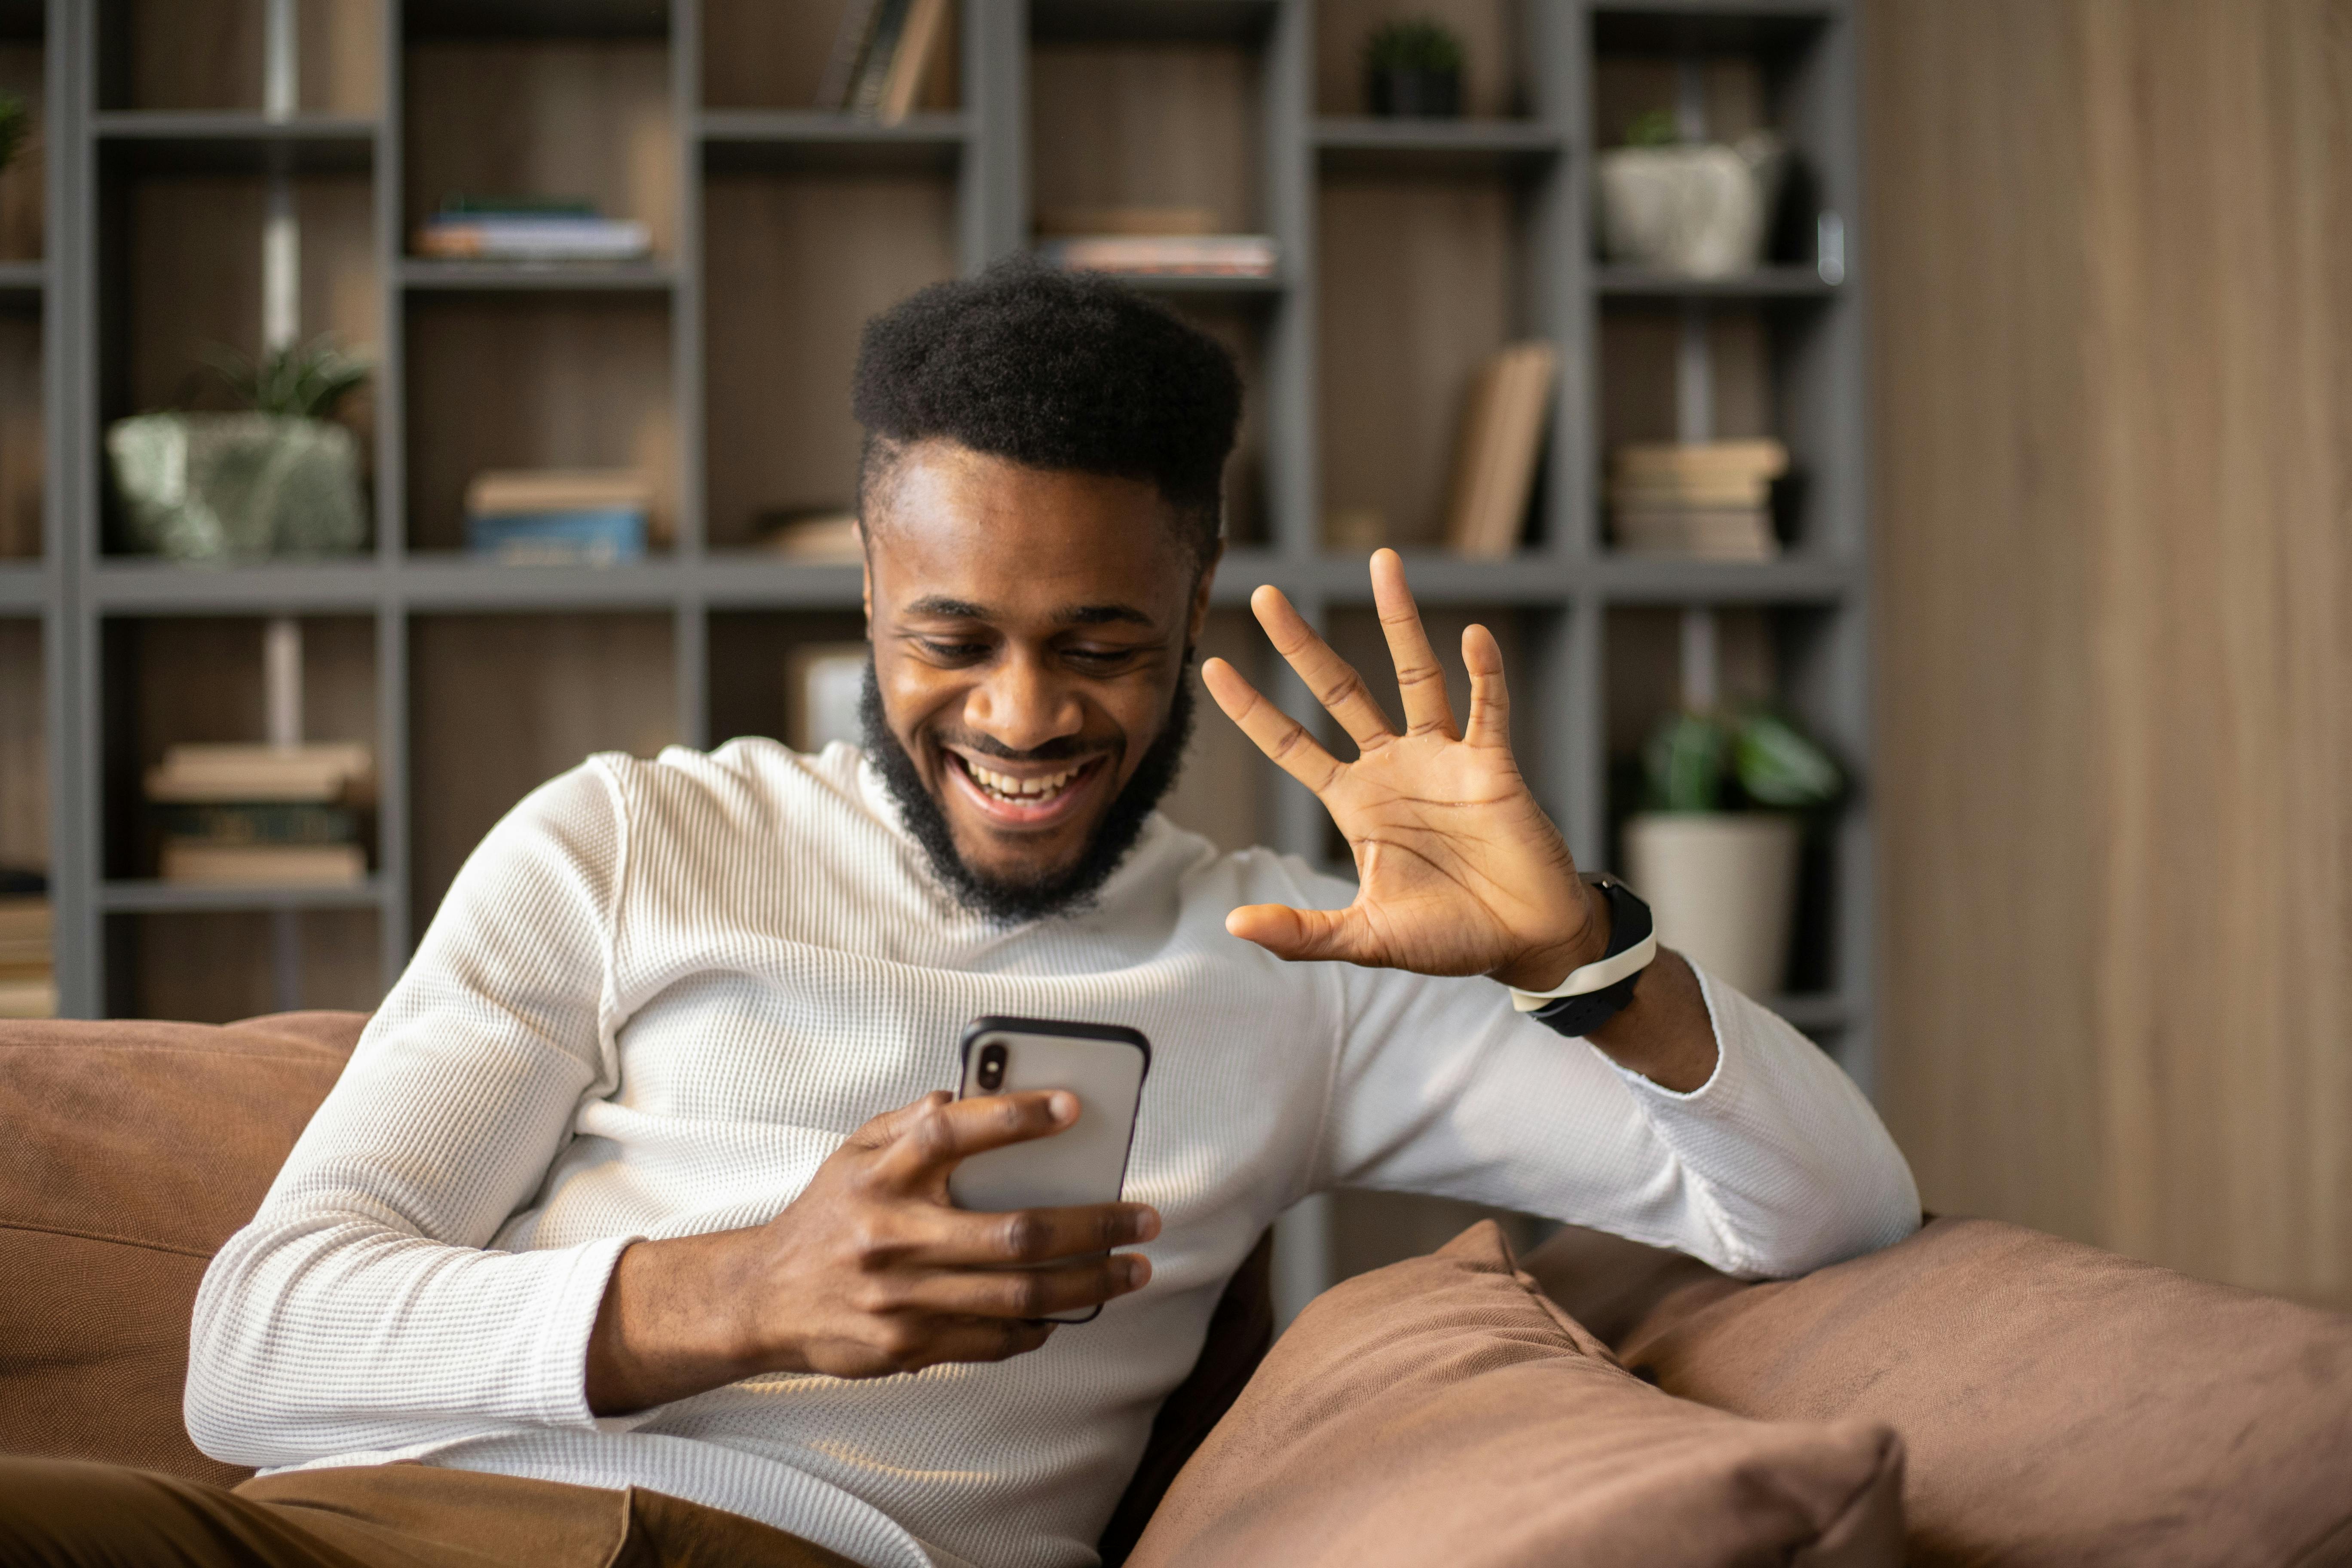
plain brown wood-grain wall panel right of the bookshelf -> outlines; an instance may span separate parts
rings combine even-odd
[[[1865,21],[1889,1119],[2352,1302],[2352,7]]]

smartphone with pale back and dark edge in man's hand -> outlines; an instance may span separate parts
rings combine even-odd
[[[1077,1121],[957,1164],[948,1173],[948,1197],[957,1208],[1002,1213],[1120,1199],[1143,1074],[1152,1065],[1152,1044],[1138,1030],[1058,1018],[974,1018],[964,1025],[962,1056],[964,1081],[955,1098],[1068,1088],[1077,1095]],[[1047,1321],[1084,1324],[1101,1309]]]

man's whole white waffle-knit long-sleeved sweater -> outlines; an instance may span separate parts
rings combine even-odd
[[[1061,1568],[1094,1540],[1258,1232],[1327,1187],[1435,1192],[1790,1274],[1919,1222],[1846,1077],[1705,983],[1689,1095],[1491,980],[1284,964],[1225,912],[1352,889],[1155,818],[1094,910],[1018,929],[931,877],[856,750],[595,757],[466,863],[195,1307],[188,1429],[238,1465],[428,1460],[644,1486],[873,1568]],[[1152,1281],[1000,1366],[583,1392],[637,1237],[760,1225],[868,1117],[955,1088],[978,1013],[1152,1041],[1127,1197]]]

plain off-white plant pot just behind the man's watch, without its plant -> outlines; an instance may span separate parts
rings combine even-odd
[[[1651,811],[1625,823],[1625,882],[1661,943],[1771,997],[1788,978],[1797,839],[1797,818],[1773,811]]]

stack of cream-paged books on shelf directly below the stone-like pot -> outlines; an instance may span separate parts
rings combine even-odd
[[[1609,522],[1625,555],[1764,562],[1780,552],[1771,531],[1771,482],[1788,447],[1755,442],[1658,442],[1618,447],[1609,473]]]

